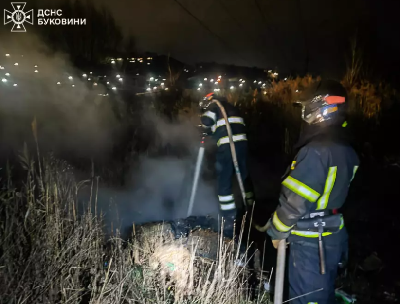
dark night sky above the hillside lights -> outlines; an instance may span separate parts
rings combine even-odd
[[[304,72],[307,66],[309,72],[339,74],[356,30],[366,58],[379,70],[399,63],[400,0],[178,1],[224,42],[175,0],[95,2],[109,8],[141,50],[170,52],[188,63],[216,61],[281,72]]]

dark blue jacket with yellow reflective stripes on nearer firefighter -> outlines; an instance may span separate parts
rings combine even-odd
[[[309,213],[342,207],[358,169],[358,156],[338,127],[313,133],[303,136],[302,146],[282,182],[279,206],[268,231],[275,239],[317,241],[318,232],[300,231],[296,223]],[[343,227],[342,217],[340,231]],[[322,236],[331,234],[325,232]]]

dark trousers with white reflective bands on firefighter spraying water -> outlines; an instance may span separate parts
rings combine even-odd
[[[251,205],[254,201],[254,194],[247,167],[247,142],[236,142],[235,149],[240,175],[246,192],[246,203]],[[216,155],[216,171],[219,209],[221,214],[225,217],[236,216],[236,204],[232,190],[232,179],[236,177],[236,172],[232,161],[232,153],[229,143],[218,147]]]

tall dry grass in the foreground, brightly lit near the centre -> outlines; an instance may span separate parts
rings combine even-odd
[[[107,239],[91,204],[78,213],[77,192],[96,182],[76,183],[68,165],[49,157],[42,170],[27,149],[21,155],[26,180],[9,179],[0,203],[0,303],[268,303],[250,302],[244,268],[219,243],[217,261],[196,256],[162,229],[135,231],[130,242]]]

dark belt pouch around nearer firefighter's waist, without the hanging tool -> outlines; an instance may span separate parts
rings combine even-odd
[[[293,230],[299,232],[337,233],[343,227],[343,215],[336,209],[315,211],[297,221]]]

